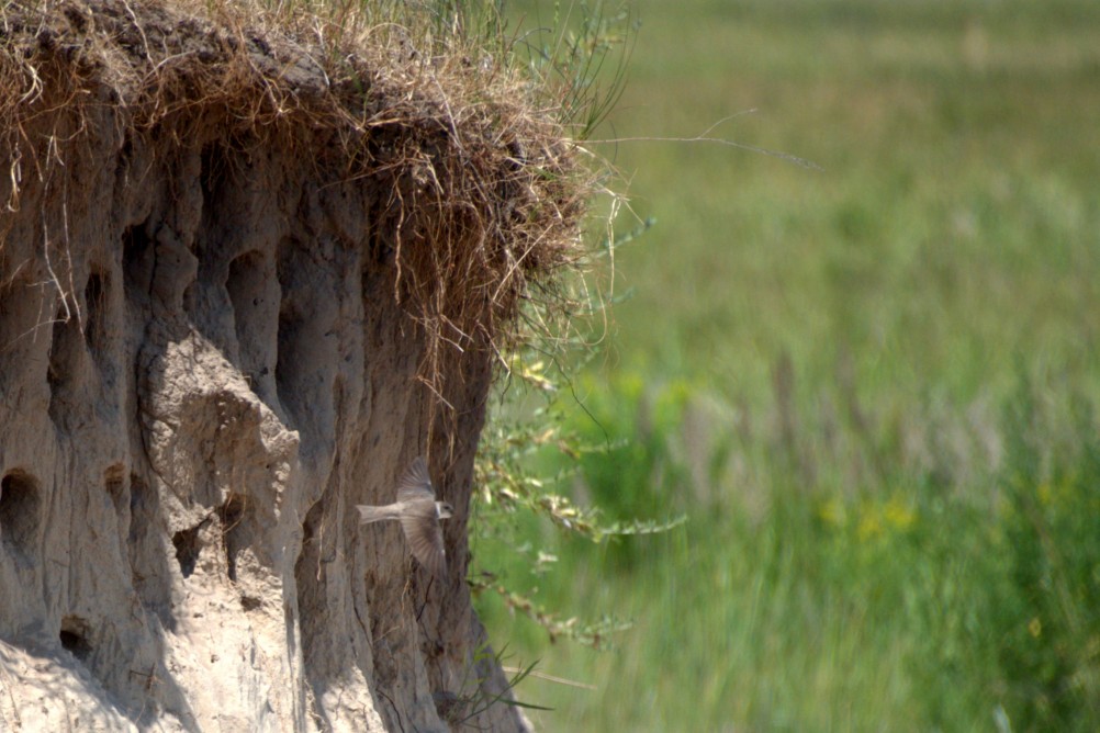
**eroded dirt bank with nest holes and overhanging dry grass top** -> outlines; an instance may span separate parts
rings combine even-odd
[[[552,129],[156,3],[3,25],[0,729],[457,725],[503,685],[466,520],[494,341],[575,230]],[[356,526],[421,453],[446,581]]]

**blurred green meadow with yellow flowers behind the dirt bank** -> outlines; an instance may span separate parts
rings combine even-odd
[[[551,643],[481,593],[506,664],[538,660],[531,719],[1100,730],[1100,2],[630,7],[593,135],[620,142],[588,146],[620,231],[657,224],[554,408],[605,449],[539,460],[608,519],[686,522],[595,544],[517,518],[534,565],[475,543],[562,618],[632,621]],[[816,167],[627,140],[730,116],[707,135]]]

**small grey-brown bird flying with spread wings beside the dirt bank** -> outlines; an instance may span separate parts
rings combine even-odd
[[[443,529],[439,520],[451,517],[454,509],[446,501],[436,501],[424,456],[418,456],[402,475],[402,480],[397,482],[396,502],[385,507],[356,504],[355,509],[359,510],[360,525],[399,520],[413,556],[437,578],[447,575]]]

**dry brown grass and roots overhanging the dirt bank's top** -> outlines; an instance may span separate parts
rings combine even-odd
[[[0,264],[30,178],[48,188],[92,136],[290,146],[392,192],[372,236],[396,254],[395,296],[430,336],[421,375],[442,399],[447,348],[499,349],[524,298],[552,300],[594,182],[499,35],[428,11],[395,23],[417,16],[400,7],[7,3]],[[51,134],[28,133],[43,121]]]

